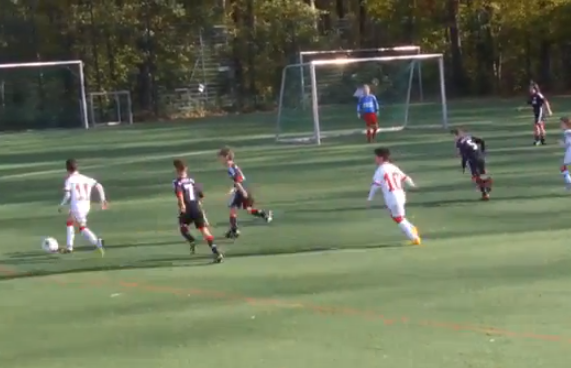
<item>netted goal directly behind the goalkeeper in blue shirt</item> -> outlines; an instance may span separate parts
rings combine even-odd
[[[417,72],[422,65],[422,74]],[[300,84],[300,74],[309,75]],[[422,81],[419,81],[419,79]],[[422,96],[418,86],[422,82]],[[442,54],[337,58],[288,65],[282,72],[276,139],[315,142],[363,133],[357,117],[360,88],[380,104],[381,131],[448,125]]]

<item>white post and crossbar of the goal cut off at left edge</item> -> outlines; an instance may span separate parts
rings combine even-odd
[[[84,74],[84,64],[81,60],[63,60],[63,61],[48,61],[48,62],[31,62],[31,63],[11,63],[11,64],[0,64],[0,73],[6,72],[9,69],[13,69],[14,71],[19,69],[40,69],[39,76],[41,77],[45,73],[49,71],[49,69],[54,69],[57,67],[64,67],[69,69],[69,67],[75,66],[77,67],[77,77],[79,79],[77,89],[79,90],[79,95],[77,96],[78,102],[78,109],[77,116],[80,118],[81,125],[85,129],[89,129],[89,119],[88,119],[88,111],[87,111],[87,95],[85,92],[85,74]],[[69,69],[71,71],[71,69]],[[73,73],[73,72],[72,72]],[[14,72],[10,72],[9,74],[14,74]],[[8,75],[10,76],[10,75]],[[0,79],[3,77],[0,76]],[[4,86],[4,80],[2,79],[2,85]],[[4,88],[2,89],[2,100],[5,101],[4,95]]]

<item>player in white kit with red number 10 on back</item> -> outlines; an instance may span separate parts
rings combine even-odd
[[[373,176],[373,184],[369,191],[368,201],[372,201],[375,193],[381,189],[391,217],[406,237],[414,245],[420,245],[421,239],[418,230],[406,219],[405,204],[406,194],[404,185],[414,187],[412,179],[402,172],[398,166],[390,162],[391,153],[388,148],[377,148],[375,150],[375,161],[379,165]]]

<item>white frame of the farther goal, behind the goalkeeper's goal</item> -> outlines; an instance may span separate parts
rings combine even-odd
[[[380,47],[380,48],[365,48],[365,49],[350,49],[350,50],[310,50],[310,51],[300,51],[298,53],[298,64],[303,65],[311,61],[319,59],[333,59],[336,55],[345,55],[348,58],[362,58],[363,56],[356,56],[358,54],[374,54],[378,55],[368,55],[369,57],[384,57],[384,56],[395,56],[395,55],[381,55],[383,53],[395,53],[395,54],[406,54],[406,55],[419,55],[422,53],[420,46],[408,45],[408,46],[395,46],[395,47]],[[422,92],[422,67],[420,64],[417,65],[416,73],[418,73],[418,93],[420,100],[423,100]],[[303,93],[306,92],[306,82],[305,73],[303,71],[300,73],[301,79],[301,90]]]

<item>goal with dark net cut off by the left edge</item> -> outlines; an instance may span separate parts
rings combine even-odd
[[[0,64],[0,130],[88,128],[80,60]]]

